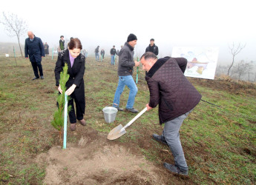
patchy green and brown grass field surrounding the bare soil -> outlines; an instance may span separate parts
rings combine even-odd
[[[59,135],[50,125],[56,110],[54,67],[56,58],[44,58],[45,79],[32,81],[30,61],[0,58],[0,184],[42,184],[45,165],[37,155],[59,145]],[[105,124],[102,108],[111,104],[117,85],[117,66],[110,58],[96,62],[88,58],[85,70],[85,119],[88,127],[108,135],[118,124],[126,124],[134,114],[118,112],[116,121]],[[148,103],[148,87],[140,72],[134,107],[142,110]],[[135,75],[134,75],[135,76]],[[180,138],[189,166],[189,178],[168,173],[166,184],[255,184],[256,182],[256,85],[230,79],[214,81],[189,78],[203,99],[180,129]],[[121,97],[125,107],[128,89]],[[151,139],[163,127],[157,108],[145,112],[116,144],[131,147],[144,155],[157,169],[163,162],[173,163],[168,148]],[[76,143],[82,131],[70,132],[68,142]]]

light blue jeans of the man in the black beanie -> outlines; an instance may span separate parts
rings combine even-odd
[[[138,88],[134,82],[134,78],[132,78],[131,75],[125,75],[125,76],[119,75],[119,81],[118,81],[118,86],[116,88],[113,107],[119,107],[120,96],[122,95],[122,91],[125,89],[125,85],[130,89],[126,108],[132,109],[134,107],[135,96],[137,95]]]

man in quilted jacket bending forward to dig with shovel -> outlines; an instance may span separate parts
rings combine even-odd
[[[180,175],[188,175],[188,166],[180,143],[180,127],[183,120],[199,103],[201,95],[183,74],[186,58],[159,58],[151,52],[140,58],[142,69],[147,71],[145,80],[150,91],[147,110],[159,104],[160,124],[165,124],[162,135],[153,138],[168,145],[175,164],[164,163],[166,169]]]

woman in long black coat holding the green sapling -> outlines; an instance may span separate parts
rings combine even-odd
[[[59,93],[62,89],[59,86],[60,73],[65,63],[68,64],[69,79],[66,83],[67,95],[70,95],[68,106],[71,105],[71,110],[68,113],[70,119],[70,129],[76,130],[76,119],[83,126],[86,125],[85,114],[85,82],[83,76],[85,74],[85,55],[81,53],[82,44],[79,38],[73,38],[69,42],[68,50],[63,50],[59,53],[58,60],[55,67],[56,86]],[[76,113],[73,106],[73,101],[76,103]]]

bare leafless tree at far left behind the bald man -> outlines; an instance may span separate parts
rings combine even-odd
[[[20,36],[23,36],[24,33],[26,33],[26,30],[27,30],[26,22],[23,21],[22,19],[19,19],[18,16],[13,13],[5,14],[3,12],[3,16],[4,16],[4,19],[2,21],[0,20],[0,23],[4,24],[4,29],[6,30],[7,35],[10,37],[17,36],[18,42],[19,42]],[[21,50],[21,54],[22,54],[22,47],[20,43],[19,43],[19,50]]]

